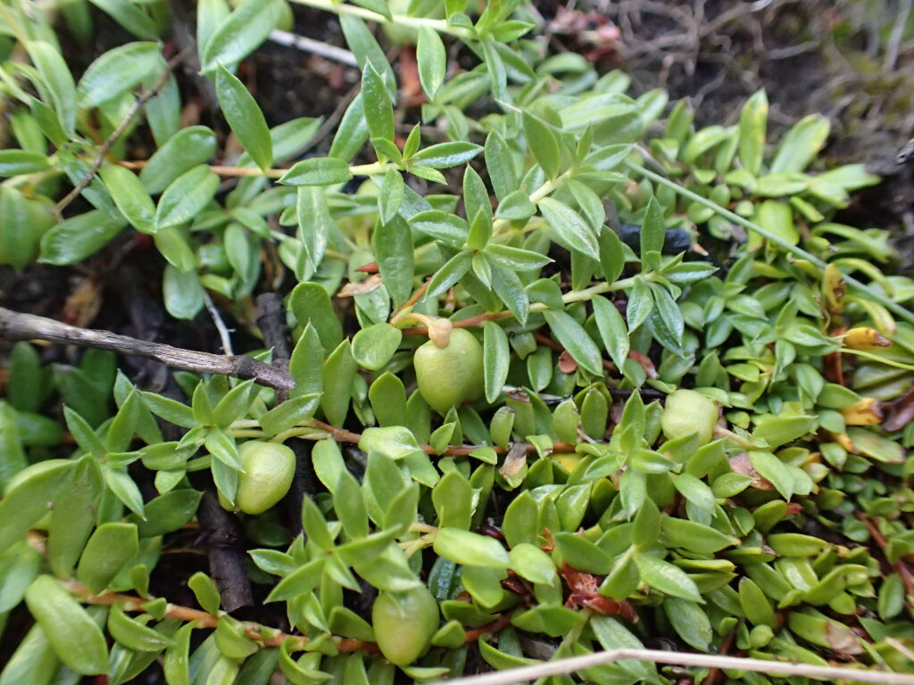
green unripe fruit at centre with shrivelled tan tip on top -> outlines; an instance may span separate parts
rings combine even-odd
[[[465,329],[455,328],[447,347],[423,344],[413,364],[422,398],[439,414],[483,394],[483,346]]]

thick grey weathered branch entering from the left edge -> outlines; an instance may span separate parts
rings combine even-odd
[[[253,378],[260,385],[269,385],[278,390],[292,390],[295,387],[295,381],[288,372],[250,357],[182,350],[161,342],[137,340],[108,331],[92,331],[43,316],[10,311],[3,307],[0,307],[0,340],[47,340],[80,347],[95,347],[154,359],[176,369],[195,371],[198,374]]]

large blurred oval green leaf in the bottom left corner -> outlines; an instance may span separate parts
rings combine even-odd
[[[49,575],[26,591],[26,604],[58,659],[83,675],[108,672],[108,646],[86,610]]]

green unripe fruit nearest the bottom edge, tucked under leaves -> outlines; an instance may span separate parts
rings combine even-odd
[[[377,595],[371,609],[375,639],[392,664],[409,666],[429,648],[438,630],[438,602],[425,585]]]

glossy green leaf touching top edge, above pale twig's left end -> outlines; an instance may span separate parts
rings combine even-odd
[[[244,0],[207,40],[202,70],[231,67],[246,58],[276,28],[284,12],[282,0]]]

